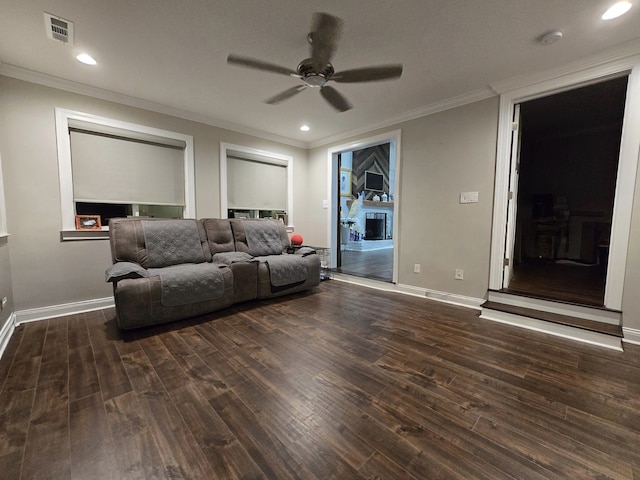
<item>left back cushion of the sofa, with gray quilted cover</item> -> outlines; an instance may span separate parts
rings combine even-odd
[[[211,261],[202,222],[193,219],[118,218],[109,221],[114,262],[145,268]]]

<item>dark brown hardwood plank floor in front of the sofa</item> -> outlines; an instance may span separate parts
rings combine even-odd
[[[336,280],[126,334],[28,323],[0,477],[640,479],[640,347]]]

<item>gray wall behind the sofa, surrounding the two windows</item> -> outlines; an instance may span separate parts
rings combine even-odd
[[[294,201],[304,227],[306,150],[257,137],[0,77],[0,145],[4,167],[10,258],[16,311],[110,297],[104,270],[106,240],[60,241],[60,188],[54,108],[62,107],[194,137],[196,215],[217,217],[220,142],[293,157]],[[296,225],[298,227],[298,225]],[[3,269],[4,271],[4,269]],[[4,273],[2,279],[4,279]],[[3,280],[0,280],[2,287]],[[1,317],[0,317],[1,318]]]

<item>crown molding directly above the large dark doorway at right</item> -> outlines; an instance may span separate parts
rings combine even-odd
[[[536,74],[518,75],[490,84],[497,94],[579,74],[585,70],[601,70],[600,76],[618,73],[621,68],[631,68],[640,61],[640,40],[632,40],[613,49],[605,50],[598,55],[568,63],[561,68],[554,68]]]

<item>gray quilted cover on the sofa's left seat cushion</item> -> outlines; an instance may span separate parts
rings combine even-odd
[[[158,275],[162,305],[172,307],[215,300],[224,294],[224,265],[185,263],[164,268],[150,268],[149,276]]]

